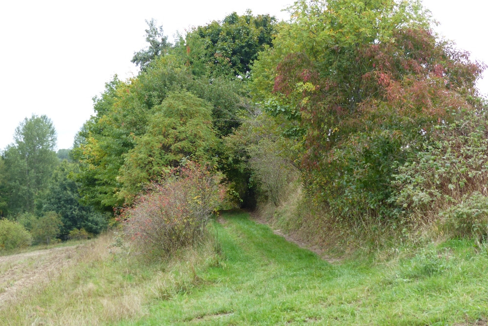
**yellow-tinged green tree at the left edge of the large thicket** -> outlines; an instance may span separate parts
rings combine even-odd
[[[71,151],[74,161],[80,163],[76,181],[81,200],[99,210],[111,211],[119,204],[114,196],[118,188],[115,179],[122,154],[133,147],[130,132],[121,130],[124,123],[115,107],[127,89],[117,76],[105,83],[105,91],[93,98],[96,114],[83,124]]]

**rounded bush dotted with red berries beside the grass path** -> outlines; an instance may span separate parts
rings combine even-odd
[[[171,255],[193,245],[224,200],[222,175],[197,163],[174,169],[163,183],[152,183],[120,218],[126,239],[138,252]]]

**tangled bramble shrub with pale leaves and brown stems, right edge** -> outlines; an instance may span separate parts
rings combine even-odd
[[[486,116],[468,113],[460,118],[434,126],[435,141],[399,166],[393,176],[397,193],[391,200],[401,209],[402,216],[417,213],[427,220],[436,219],[445,207],[464,202],[453,207],[454,211],[463,210],[471,195],[479,200],[480,193],[486,194]],[[453,216],[454,211],[449,210],[448,215]]]

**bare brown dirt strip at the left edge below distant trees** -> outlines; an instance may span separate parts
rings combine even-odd
[[[0,256],[0,309],[32,285],[49,281],[70,265],[78,246]]]

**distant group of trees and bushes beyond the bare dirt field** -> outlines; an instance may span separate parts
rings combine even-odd
[[[0,156],[0,249],[87,238],[107,216],[80,201],[72,176],[79,164],[55,151],[56,130],[46,116],[20,122]]]

